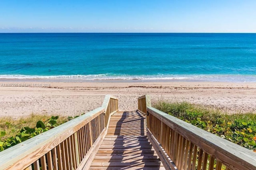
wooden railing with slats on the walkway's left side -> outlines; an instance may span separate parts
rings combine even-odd
[[[106,95],[102,107],[0,152],[0,170],[88,169],[116,111],[118,99]]]

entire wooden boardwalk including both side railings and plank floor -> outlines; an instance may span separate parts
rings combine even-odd
[[[256,170],[255,152],[152,107],[149,95],[138,110],[118,111],[106,95],[101,107],[1,151],[0,170]]]

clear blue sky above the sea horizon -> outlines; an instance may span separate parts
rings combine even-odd
[[[0,0],[0,32],[256,33],[256,0]]]

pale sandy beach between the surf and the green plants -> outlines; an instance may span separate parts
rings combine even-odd
[[[153,104],[158,100],[187,101],[227,113],[256,112],[255,83],[4,80],[0,81],[0,116],[74,116],[100,107],[106,94],[118,97],[123,111],[136,110],[137,98],[150,94]]]

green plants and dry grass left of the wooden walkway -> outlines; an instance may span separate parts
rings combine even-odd
[[[0,151],[26,141],[75,117],[50,117],[49,115],[35,114],[18,120],[11,117],[2,117],[0,118]]]

